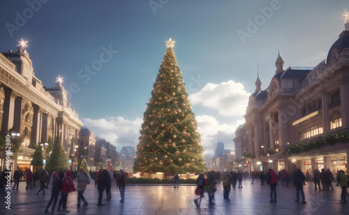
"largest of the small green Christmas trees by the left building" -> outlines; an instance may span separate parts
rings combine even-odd
[[[66,152],[62,148],[61,140],[59,140],[59,138],[54,142],[52,154],[50,155],[50,158],[48,158],[45,169],[50,173],[57,170],[66,171],[69,169]]]

